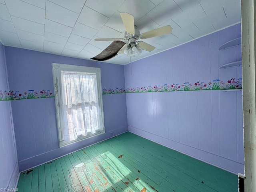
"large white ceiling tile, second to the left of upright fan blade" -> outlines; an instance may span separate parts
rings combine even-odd
[[[77,20],[77,22],[97,30],[100,30],[107,21],[108,17],[92,10],[87,6],[84,6]]]

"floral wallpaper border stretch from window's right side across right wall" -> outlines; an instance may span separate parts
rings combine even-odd
[[[143,92],[161,92],[161,91],[200,91],[200,90],[230,90],[242,89],[242,78],[230,78],[227,82],[219,79],[212,80],[208,83],[197,81],[195,83],[185,82],[184,84],[164,84],[162,86],[148,86],[137,88],[116,88],[116,89],[103,89],[102,94],[118,94],[118,93],[143,93]]]

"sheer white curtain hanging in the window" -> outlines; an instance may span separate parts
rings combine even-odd
[[[95,73],[61,72],[64,140],[103,130]]]

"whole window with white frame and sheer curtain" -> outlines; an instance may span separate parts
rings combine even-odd
[[[52,63],[60,147],[105,132],[100,68]]]

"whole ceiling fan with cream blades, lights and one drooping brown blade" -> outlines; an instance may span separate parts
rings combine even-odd
[[[145,33],[140,34],[139,30],[134,25],[134,17],[128,13],[120,13],[126,32],[124,38],[102,38],[94,39],[95,41],[114,41],[110,46],[95,56],[94,60],[104,61],[113,58],[117,54],[125,54],[134,57],[135,54],[140,54],[142,50],[152,51],[154,46],[141,41],[142,39],[152,38],[156,36],[166,35],[172,32],[170,25],[160,27]]]

